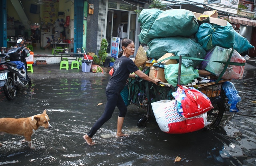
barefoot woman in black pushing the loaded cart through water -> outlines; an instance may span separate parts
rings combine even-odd
[[[117,119],[117,132],[116,138],[127,136],[126,134],[122,133],[122,126],[124,122],[124,116],[126,115],[127,108],[124,104],[124,100],[120,95],[120,92],[124,88],[128,77],[135,77],[135,74],[140,76],[140,78],[157,83],[160,80],[158,79],[151,79],[145,73],[139,70],[139,68],[134,64],[134,62],[129,58],[129,56],[134,54],[134,42],[130,39],[123,39],[122,40],[122,51],[119,52],[118,57],[114,63],[114,72],[112,77],[110,78],[108,85],[106,86],[106,96],[107,96],[107,103],[105,107],[105,111],[102,116],[95,122],[93,127],[91,128],[90,132],[84,135],[84,140],[88,145],[94,145],[95,142],[92,142],[92,137],[98,131],[101,126],[107,122],[113,112],[115,107],[119,109],[119,116]],[[130,74],[130,73],[135,74]]]

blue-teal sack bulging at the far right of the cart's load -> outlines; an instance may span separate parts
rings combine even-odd
[[[235,34],[234,49],[239,54],[241,54],[242,52],[246,52],[251,48],[254,48],[254,46],[252,46],[252,44],[250,44],[250,42],[246,38],[238,34],[238,32],[236,32],[235,30],[234,30],[234,34]]]

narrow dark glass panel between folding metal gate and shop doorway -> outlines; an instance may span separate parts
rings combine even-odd
[[[107,30],[106,30],[106,39],[108,41],[108,49],[107,53],[110,54],[111,43],[112,43],[112,34],[113,34],[113,18],[114,18],[114,11],[108,10],[108,19],[107,19]]]

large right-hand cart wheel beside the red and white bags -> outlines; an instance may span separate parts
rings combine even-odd
[[[212,130],[220,124],[224,113],[224,103],[221,98],[212,98],[211,102],[213,108],[207,112],[207,121],[212,123],[206,126],[208,130]]]

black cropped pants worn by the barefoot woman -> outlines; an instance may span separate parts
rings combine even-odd
[[[112,114],[113,114],[116,106],[119,109],[120,117],[124,118],[124,116],[126,115],[127,108],[126,108],[126,106],[124,104],[124,100],[122,99],[122,96],[120,94],[114,94],[114,93],[106,91],[106,96],[107,96],[107,103],[106,103],[105,111],[102,114],[102,116],[92,126],[90,132],[88,132],[88,134],[87,134],[91,138],[101,128],[101,126],[112,117]]]

